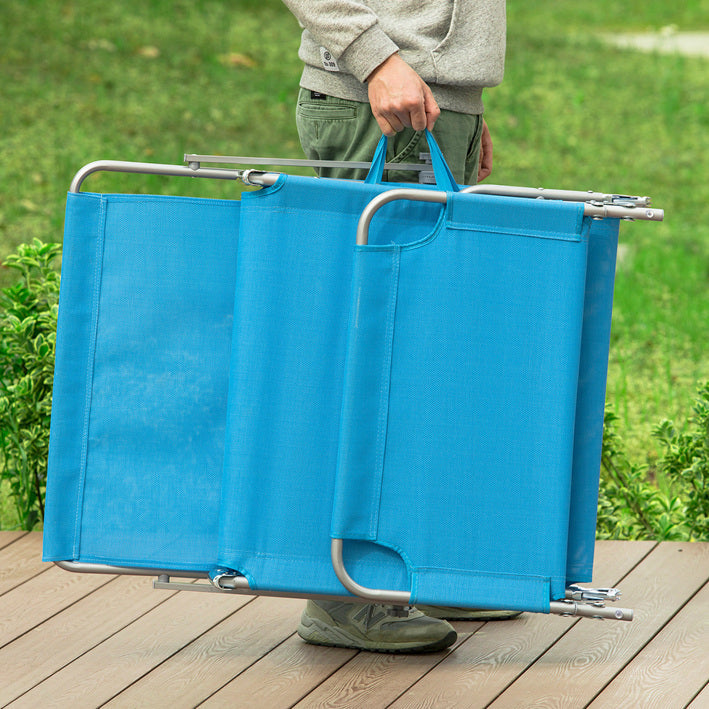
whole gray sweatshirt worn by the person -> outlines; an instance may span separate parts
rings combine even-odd
[[[303,29],[300,85],[367,101],[365,79],[399,52],[441,108],[482,113],[502,81],[505,0],[284,0]]]

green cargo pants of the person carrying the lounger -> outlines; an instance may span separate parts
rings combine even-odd
[[[482,116],[441,111],[433,136],[456,182],[474,185],[480,161]],[[349,101],[301,89],[296,108],[296,125],[305,154],[311,160],[352,160],[368,162],[382,136],[368,103]],[[423,132],[405,128],[389,139],[387,162],[417,163],[419,153],[427,153]],[[321,177],[363,180],[366,170],[323,168]],[[388,170],[387,182],[417,182],[418,173]]]

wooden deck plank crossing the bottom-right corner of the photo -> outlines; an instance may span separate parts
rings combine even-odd
[[[676,682],[677,675],[682,677]],[[685,706],[709,677],[709,582],[626,665],[592,709]]]

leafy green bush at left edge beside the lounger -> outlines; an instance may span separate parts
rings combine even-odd
[[[21,529],[44,518],[59,301],[53,262],[60,251],[35,239],[4,264],[20,280],[0,294],[0,480]]]

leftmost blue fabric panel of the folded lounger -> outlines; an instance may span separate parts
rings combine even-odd
[[[70,195],[45,559],[215,564],[239,204]]]

